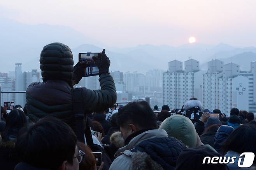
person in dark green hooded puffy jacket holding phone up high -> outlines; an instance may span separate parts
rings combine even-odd
[[[109,58],[102,51],[102,58],[95,58],[100,71],[100,90],[81,88],[85,114],[100,112],[116,102],[116,88],[109,74]],[[28,117],[36,121],[41,117],[58,117],[73,129],[72,89],[82,78],[83,68],[73,67],[73,54],[68,46],[52,43],[45,46],[40,55],[43,82],[33,82],[26,90]]]

